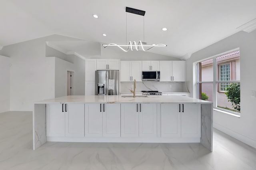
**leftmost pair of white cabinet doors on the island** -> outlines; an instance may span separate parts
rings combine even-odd
[[[46,136],[84,136],[84,104],[47,104]]]

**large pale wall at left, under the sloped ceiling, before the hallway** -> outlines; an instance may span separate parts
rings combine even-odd
[[[0,55],[10,57],[10,110],[32,111],[33,103],[55,97],[55,58],[45,57],[47,41],[77,40],[52,35],[7,45]]]

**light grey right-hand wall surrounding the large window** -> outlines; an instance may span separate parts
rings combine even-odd
[[[190,83],[190,95],[193,96],[193,63],[240,47],[240,96],[241,117],[234,117],[214,111],[214,127],[256,148],[256,98],[251,98],[251,91],[256,90],[256,31],[238,32],[216,42],[196,53],[186,61],[186,77]],[[194,77],[193,77],[194,76]],[[195,93],[194,93],[195,94]],[[194,97],[196,97],[194,95]]]

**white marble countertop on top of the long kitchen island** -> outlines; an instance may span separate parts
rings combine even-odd
[[[202,103],[212,102],[194,99],[186,96],[148,96],[148,97],[121,97],[120,95],[108,96],[64,96],[35,102],[35,104],[49,103]]]

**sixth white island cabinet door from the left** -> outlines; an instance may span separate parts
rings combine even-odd
[[[139,136],[157,137],[156,104],[139,104]]]

